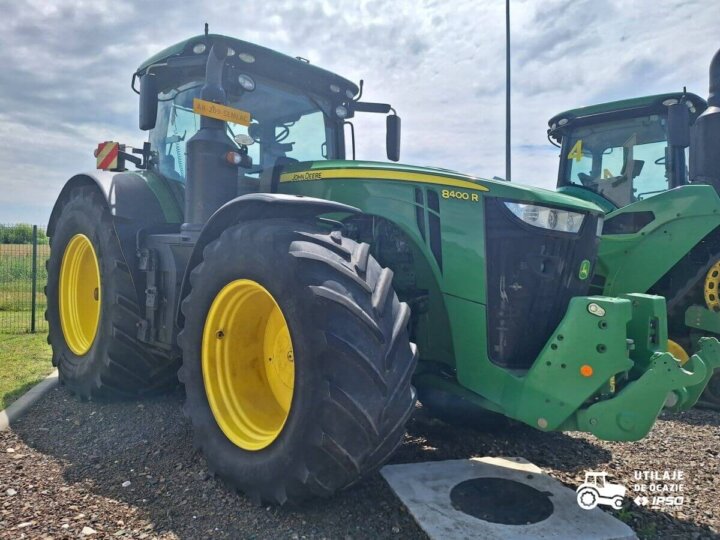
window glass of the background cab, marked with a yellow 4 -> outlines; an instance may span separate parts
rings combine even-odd
[[[563,137],[561,184],[583,186],[626,206],[669,188],[666,148],[664,116],[577,127]]]

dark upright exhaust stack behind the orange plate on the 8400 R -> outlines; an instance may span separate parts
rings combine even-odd
[[[227,47],[213,45],[205,67],[205,85],[200,99],[225,105],[222,84]],[[237,195],[237,167],[223,157],[236,146],[227,134],[225,122],[200,117],[200,129],[187,142],[185,223],[182,230],[199,232],[210,216]]]

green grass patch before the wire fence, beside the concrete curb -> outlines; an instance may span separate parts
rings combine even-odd
[[[0,334],[0,410],[52,371],[47,334]]]

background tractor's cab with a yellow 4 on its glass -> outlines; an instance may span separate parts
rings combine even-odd
[[[705,100],[671,93],[566,111],[549,121],[558,190],[606,212],[687,183],[690,124]]]

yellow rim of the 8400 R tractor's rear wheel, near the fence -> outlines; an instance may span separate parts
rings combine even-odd
[[[70,239],[60,265],[60,326],[77,356],[90,350],[100,323],[100,265],[84,234]]]

